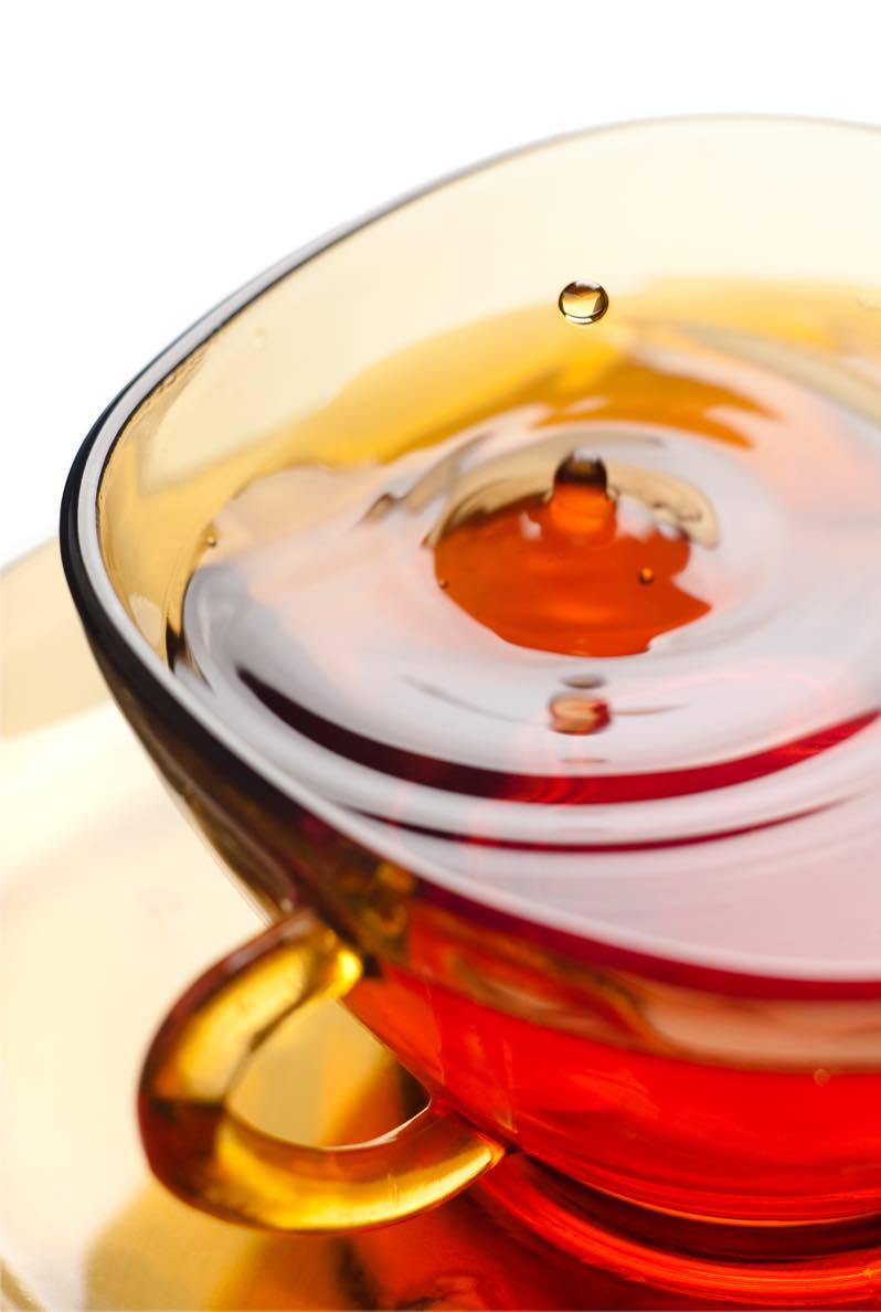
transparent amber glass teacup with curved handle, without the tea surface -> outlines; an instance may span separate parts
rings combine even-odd
[[[620,349],[628,298],[654,289],[638,336],[682,327],[676,287],[725,279],[732,294],[701,304],[711,346],[758,333],[753,365],[815,377],[881,424],[880,176],[880,133],[808,121],[635,123],[530,147],[282,261],[101,416],[64,496],[71,590],[122,710],[270,921],[181,998],[144,1065],[144,1145],[181,1198],[245,1224],[351,1231],[482,1177],[536,1233],[670,1290],[771,1304],[877,1288],[881,953],[819,958],[796,935],[775,956],[684,913],[665,934],[555,911],[535,887],[558,853],[538,830],[527,892],[427,861],[418,836],[261,756],[169,660],[206,526],[232,496],[273,470],[439,441],[524,379],[540,398],[573,349],[556,298],[574,277],[611,300],[586,329],[591,358]],[[783,320],[771,285],[791,289]],[[826,287],[852,300],[846,384],[810,320]],[[509,328],[485,352],[434,349],[492,316]],[[704,421],[721,422],[725,398],[711,400]],[[853,726],[877,741],[871,716]],[[590,845],[576,848],[589,869]],[[687,905],[691,887],[721,924],[725,899],[749,896],[762,917],[755,883],[713,905],[713,869],[671,897]],[[252,1050],[317,997],[345,997],[429,1090],[395,1134],[315,1148],[236,1115]]]

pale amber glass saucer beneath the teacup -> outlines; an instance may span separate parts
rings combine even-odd
[[[4,572],[3,609],[3,1305],[690,1305],[538,1246],[473,1194],[357,1239],[307,1239],[212,1220],[149,1178],[134,1106],[144,1047],[260,918],[105,694],[54,543]],[[261,1124],[337,1143],[389,1128],[413,1096],[338,1005],[281,1034],[241,1090]]]

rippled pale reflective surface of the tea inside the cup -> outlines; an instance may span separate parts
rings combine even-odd
[[[700,304],[621,310],[589,377],[391,459],[249,484],[176,670],[427,878],[878,977],[881,325],[844,293],[810,328]]]

